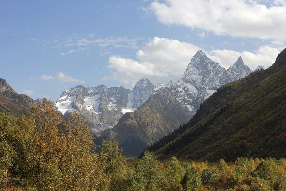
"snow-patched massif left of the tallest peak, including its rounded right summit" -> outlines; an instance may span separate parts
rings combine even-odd
[[[76,86],[65,90],[56,106],[64,115],[77,110],[90,129],[99,132],[114,127],[126,112],[135,111],[155,92],[154,88],[147,78],[140,79],[132,91],[123,86]]]

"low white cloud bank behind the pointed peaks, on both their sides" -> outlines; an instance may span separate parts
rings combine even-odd
[[[186,70],[191,58],[202,48],[191,43],[169,40],[167,38],[154,39],[147,44],[143,50],[136,53],[137,60],[122,58],[121,56],[111,56],[108,68],[115,72],[104,76],[102,80],[112,79],[120,81],[129,87],[142,77],[147,77],[152,83],[166,83],[169,80],[176,82]],[[213,61],[218,62],[226,69],[242,57],[244,63],[254,70],[262,64],[270,66],[275,62],[277,48],[261,46],[255,52],[236,52],[232,50],[212,50],[206,55]]]

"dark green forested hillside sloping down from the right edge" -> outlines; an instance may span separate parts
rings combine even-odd
[[[161,158],[177,155],[209,161],[285,157],[285,73],[286,49],[269,69],[219,88],[189,123],[149,150]]]

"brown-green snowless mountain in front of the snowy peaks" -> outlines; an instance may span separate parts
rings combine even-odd
[[[126,155],[139,155],[146,146],[168,135],[190,119],[190,111],[165,88],[150,95],[136,111],[124,114],[117,125],[106,129],[100,139],[113,136]],[[99,141],[100,142],[100,141]]]

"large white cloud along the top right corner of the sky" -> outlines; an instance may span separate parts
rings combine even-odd
[[[143,10],[166,25],[185,25],[216,35],[286,41],[284,0],[274,1],[270,7],[253,0],[165,0],[154,1]]]

